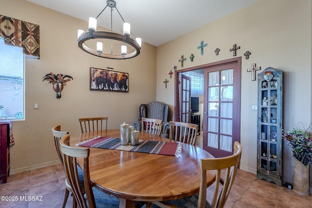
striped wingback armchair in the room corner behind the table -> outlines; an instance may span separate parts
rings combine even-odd
[[[162,102],[153,101],[148,104],[141,104],[139,107],[139,118],[133,123],[136,130],[141,131],[142,121],[141,118],[155,118],[164,121],[161,132],[162,137],[169,136],[169,122],[168,122],[169,106]]]

